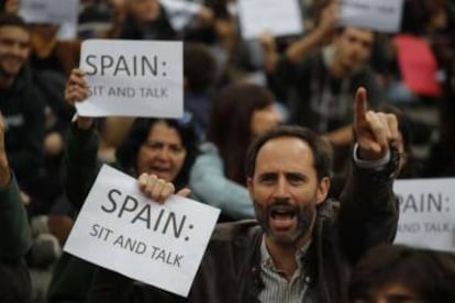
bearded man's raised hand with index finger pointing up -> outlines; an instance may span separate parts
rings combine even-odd
[[[358,88],[355,94],[354,132],[359,157],[365,160],[382,158],[390,145],[399,139],[398,122],[393,114],[367,111],[365,88]]]

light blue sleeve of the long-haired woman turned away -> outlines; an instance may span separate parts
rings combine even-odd
[[[233,220],[254,217],[248,190],[224,175],[223,160],[213,144],[201,146],[190,172],[189,187],[197,200],[221,209]]]

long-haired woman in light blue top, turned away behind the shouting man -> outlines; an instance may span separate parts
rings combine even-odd
[[[265,88],[235,83],[215,96],[201,155],[191,169],[189,186],[197,198],[222,210],[223,221],[254,216],[245,188],[244,162],[252,139],[280,122],[274,96]]]

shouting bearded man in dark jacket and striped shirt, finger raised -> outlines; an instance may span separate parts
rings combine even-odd
[[[367,249],[391,243],[398,224],[392,181],[398,166],[397,121],[366,112],[356,97],[354,170],[341,203],[328,201],[332,153],[301,126],[259,135],[246,156],[256,221],[215,227],[188,298],[134,285],[118,273],[96,273],[93,302],[346,302],[347,270]],[[144,194],[165,202],[173,186],[141,176]],[[153,202],[152,202],[153,203]],[[339,207],[340,206],[340,207]],[[149,274],[166,274],[151,272]],[[163,298],[160,298],[163,299]]]

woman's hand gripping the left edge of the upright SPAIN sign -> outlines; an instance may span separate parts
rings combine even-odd
[[[74,68],[69,75],[65,87],[65,101],[71,106],[75,102],[82,102],[88,98],[89,90],[85,79],[85,72],[79,68]],[[77,124],[79,128],[87,130],[93,123],[93,119],[88,116],[78,116]]]

